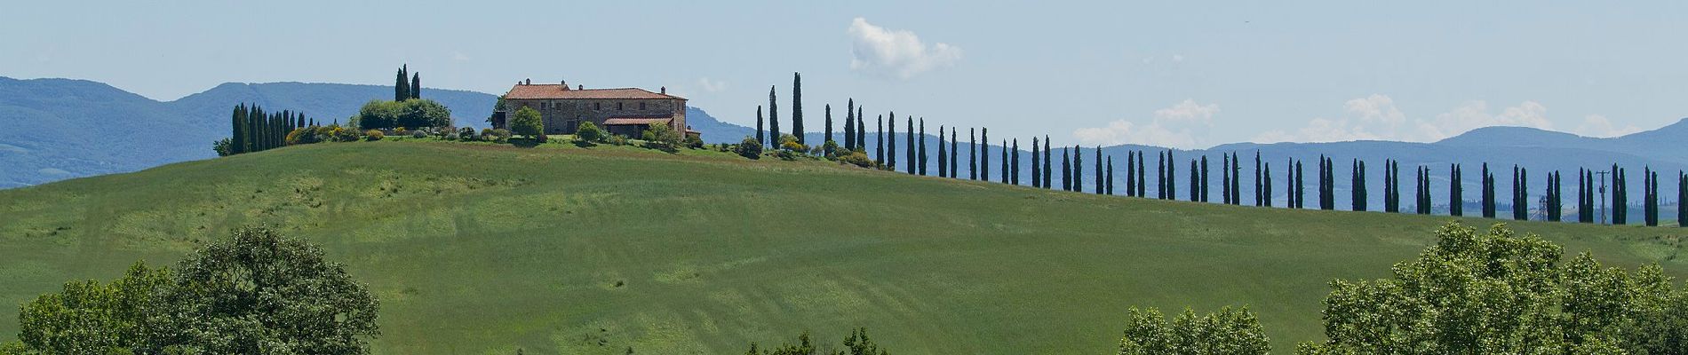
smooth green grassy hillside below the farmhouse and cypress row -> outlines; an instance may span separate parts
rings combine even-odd
[[[376,353],[743,353],[852,326],[895,353],[1107,353],[1131,306],[1224,305],[1258,311],[1288,353],[1322,336],[1328,281],[1386,276],[1448,220],[717,151],[307,145],[0,190],[0,340],[15,305],[68,279],[270,224],[380,296]],[[1683,229],[1512,227],[1688,274]]]

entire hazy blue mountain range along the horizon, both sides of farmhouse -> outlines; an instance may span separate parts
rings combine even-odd
[[[316,82],[268,82],[268,84],[221,84],[199,94],[191,94],[176,101],[154,101],[101,82],[74,79],[29,79],[19,81],[0,77],[0,123],[8,130],[0,130],[0,188],[46,183],[62,178],[133,172],[164,163],[211,158],[211,141],[228,136],[230,108],[240,103],[257,103],[265,109],[302,111],[321,121],[344,121],[371,99],[392,98],[388,86],[360,84],[316,84]],[[496,96],[473,91],[424,89],[424,98],[439,101],[452,109],[459,126],[486,126],[484,118],[491,113]],[[755,130],[722,123],[702,109],[687,108],[687,123],[692,130],[702,131],[711,143],[738,141],[755,135]],[[933,128],[935,130],[935,128]],[[841,131],[842,135],[842,131]],[[994,135],[993,143],[999,143],[1003,133]],[[900,160],[905,160],[906,136],[898,135]],[[966,136],[962,136],[966,140]],[[1030,138],[1030,136],[1028,136]],[[807,135],[805,140],[820,141],[820,135]],[[928,173],[937,173],[937,138],[925,136],[928,145]],[[876,141],[874,135],[868,136]],[[1431,168],[1431,185],[1435,200],[1445,209],[1447,204],[1447,170],[1450,163],[1462,163],[1465,168],[1465,200],[1474,202],[1479,195],[1477,177],[1480,165],[1489,162],[1496,168],[1497,183],[1511,185],[1511,167],[1529,168],[1528,183],[1531,192],[1539,195],[1545,188],[1546,172],[1575,173],[1578,167],[1609,168],[1612,163],[1622,165],[1629,172],[1629,180],[1639,185],[1642,167],[1654,167],[1663,172],[1659,183],[1664,200],[1674,202],[1674,172],[1688,170],[1688,119],[1674,125],[1634,133],[1617,138],[1588,138],[1570,133],[1545,131],[1534,128],[1492,126],[1467,131],[1463,135],[1435,143],[1403,141],[1339,141],[1339,143],[1232,143],[1207,150],[1175,150],[1173,165],[1180,185],[1180,197],[1187,197],[1188,167],[1192,158],[1209,155],[1210,182],[1219,183],[1220,153],[1237,153],[1244,160],[1242,193],[1252,200],[1252,165],[1254,153],[1271,165],[1274,200],[1285,199],[1286,183],[1285,165],[1290,158],[1305,160],[1308,173],[1315,173],[1318,155],[1334,156],[1337,162],[1337,200],[1339,205],[1349,202],[1349,167],[1359,158],[1367,163],[1369,197],[1374,207],[1382,205],[1382,162],[1394,158],[1401,162],[1403,188],[1411,190],[1413,168],[1425,165]],[[1030,151],[1030,141],[1020,141],[1021,150]],[[960,168],[967,170],[966,145],[960,156]],[[993,145],[991,175],[998,178],[1001,150]],[[1146,170],[1156,170],[1155,156],[1165,148],[1119,145],[1102,146],[1104,156],[1116,156],[1116,180],[1124,183],[1124,156],[1129,150],[1144,150],[1151,160]],[[1084,148],[1085,190],[1094,190],[1094,155],[1096,146]],[[1060,156],[1060,151],[1055,153]],[[1057,158],[1058,160],[1058,158]],[[1021,156],[1021,167],[1030,168],[1031,158]],[[1057,162],[1058,170],[1058,162]],[[1570,175],[1568,173],[1568,175]],[[1060,175],[1055,175],[1060,178]],[[1315,183],[1317,180],[1308,180]],[[1021,183],[1030,183],[1030,175],[1021,177]],[[1566,178],[1566,188],[1575,188],[1575,177]],[[1210,188],[1217,193],[1220,188]],[[1308,188],[1315,190],[1315,188]],[[1631,200],[1641,200],[1641,188],[1632,187]],[[1150,187],[1150,193],[1155,188]],[[1408,192],[1411,193],[1411,192]],[[1317,197],[1313,197],[1317,199]],[[1408,199],[1411,200],[1411,199]],[[1506,199],[1502,199],[1506,200]],[[1568,204],[1573,205],[1573,204]]]

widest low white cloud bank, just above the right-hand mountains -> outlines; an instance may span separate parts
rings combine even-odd
[[[1485,126],[1553,130],[1553,121],[1546,116],[1548,108],[1536,101],[1504,108],[1499,114],[1491,113],[1485,101],[1467,101],[1431,119],[1413,119],[1394,104],[1393,98],[1372,94],[1345,101],[1342,111],[1340,118],[1313,118],[1295,131],[1266,131],[1254,136],[1254,141],[1440,141]]]

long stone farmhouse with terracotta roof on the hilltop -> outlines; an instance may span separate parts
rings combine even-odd
[[[493,113],[493,128],[506,128],[517,109],[533,108],[545,123],[545,135],[574,135],[581,123],[592,123],[611,135],[640,136],[650,125],[668,125],[675,131],[697,136],[685,125],[685,98],[668,94],[668,87],[650,93],[638,87],[586,89],[557,84],[517,82],[505,93],[505,108]]]

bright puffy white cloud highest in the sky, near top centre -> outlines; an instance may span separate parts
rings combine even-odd
[[[960,61],[960,47],[949,44],[927,45],[910,30],[891,30],[856,17],[851,22],[851,61],[854,71],[908,79],[915,74],[945,67]]]

